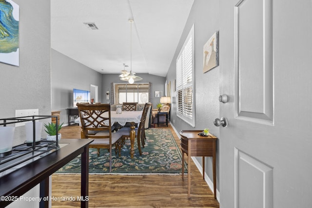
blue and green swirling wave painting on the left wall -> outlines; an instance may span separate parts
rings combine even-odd
[[[13,0],[0,0],[0,62],[19,66],[20,7]]]

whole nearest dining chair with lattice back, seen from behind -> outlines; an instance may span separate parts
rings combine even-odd
[[[112,149],[121,153],[122,134],[112,132],[110,104],[78,103],[78,113],[81,121],[81,139],[94,139],[89,148],[109,149],[109,171],[112,171]]]

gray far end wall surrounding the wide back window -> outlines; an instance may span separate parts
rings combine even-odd
[[[121,70],[120,70],[121,72]],[[156,108],[157,103],[160,102],[160,97],[155,97],[155,91],[162,91],[165,96],[165,82],[166,78],[162,76],[149,75],[149,74],[137,74],[142,77],[141,81],[135,83],[152,83],[152,104],[153,108]],[[110,100],[106,100],[106,91],[111,93],[111,83],[126,83],[119,79],[119,74],[104,74],[102,75],[102,103],[111,103]],[[105,94],[105,95],[104,95]]]

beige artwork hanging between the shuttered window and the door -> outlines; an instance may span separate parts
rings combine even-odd
[[[203,73],[219,65],[218,60],[218,31],[209,38],[203,47]]]

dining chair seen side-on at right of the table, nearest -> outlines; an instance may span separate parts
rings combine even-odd
[[[145,120],[147,117],[147,112],[149,110],[149,108],[152,107],[152,103],[145,103],[144,108],[143,108],[143,112],[142,112],[142,116],[141,116],[141,121],[140,124],[138,125],[137,128],[135,128],[136,131],[136,138],[137,138],[137,149],[140,153],[140,155],[142,155],[142,151],[141,151],[141,144],[142,143],[142,147],[144,148],[144,144],[145,144]],[[125,138],[129,138],[130,137],[130,131],[131,128],[130,127],[122,127],[120,130],[118,130],[118,133],[122,134],[123,139]]]

